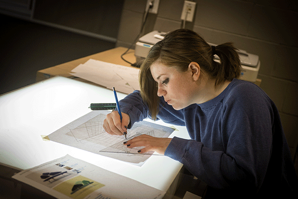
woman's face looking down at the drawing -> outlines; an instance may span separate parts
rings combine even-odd
[[[195,103],[196,82],[190,70],[180,72],[176,67],[168,67],[155,62],[150,66],[150,71],[158,84],[157,96],[163,96],[164,100],[174,109],[179,110]]]

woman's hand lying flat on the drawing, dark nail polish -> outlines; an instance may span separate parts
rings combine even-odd
[[[139,150],[139,153],[146,153],[148,151],[155,151],[159,154],[164,155],[165,149],[171,142],[172,138],[160,138],[152,137],[150,135],[140,135],[133,139],[124,142],[128,148],[144,146],[143,149]]]

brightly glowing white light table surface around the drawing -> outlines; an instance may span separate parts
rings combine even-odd
[[[118,94],[119,100],[125,96]],[[111,90],[60,76],[0,96],[1,165],[20,171],[69,154],[161,191],[168,191],[182,164],[166,156],[151,156],[142,167],[138,167],[42,139],[42,135],[49,135],[90,112],[88,106],[91,102],[114,100]],[[157,123],[168,126],[161,121]],[[171,137],[189,138],[185,127],[175,127],[179,131],[174,131]],[[0,171],[0,176],[3,175],[7,176],[5,171]],[[11,177],[13,174],[8,175]]]

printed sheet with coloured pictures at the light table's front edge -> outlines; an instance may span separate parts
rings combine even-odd
[[[161,199],[165,192],[70,155],[12,178],[58,199]]]

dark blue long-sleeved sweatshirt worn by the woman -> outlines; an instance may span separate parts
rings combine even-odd
[[[131,126],[150,117],[139,91],[120,104]],[[157,118],[186,126],[191,140],[174,137],[164,155],[210,187],[266,197],[298,189],[278,109],[256,85],[234,79],[216,98],[181,110],[161,97]]]

